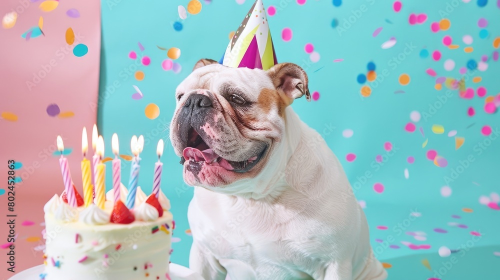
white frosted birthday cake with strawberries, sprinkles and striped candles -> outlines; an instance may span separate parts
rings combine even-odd
[[[136,180],[133,166],[138,165],[137,159],[136,155],[132,160],[131,181],[132,177]],[[85,183],[89,176],[85,160],[82,197],[70,179],[67,159],[62,155],[59,159],[65,189],[60,196],[54,194],[43,207],[45,269],[39,278],[170,280],[168,266],[175,223],[169,200],[154,185],[150,195],[136,185],[129,191],[116,175],[120,171],[115,170],[116,158],[113,189],[104,194],[103,178],[99,177],[102,174],[98,171],[98,164],[103,163],[99,160],[94,164],[97,175],[93,191],[93,185]]]

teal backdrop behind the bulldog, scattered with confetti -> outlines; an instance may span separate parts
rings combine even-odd
[[[218,60],[228,42],[228,34],[234,31],[244,14],[252,4],[246,0],[238,4],[234,0],[201,1],[202,10],[185,20],[178,17],[177,5],[186,6],[187,0],[163,1],[138,0],[102,1],[102,44],[101,44],[101,80],[98,110],[98,124],[105,139],[110,139],[113,132],[120,137],[121,153],[130,153],[128,141],[133,134],[145,136],[145,147],[141,154],[141,172],[139,185],[146,192],[152,184],[153,163],[156,160],[156,142],[162,138],[165,151],[162,157],[163,177],[162,190],[169,197],[172,213],[176,221],[174,236],[180,241],[173,243],[174,252],[171,261],[187,266],[191,236],[184,231],[189,228],[186,218],[187,205],[192,197],[192,188],[182,181],[179,158],[173,153],[168,141],[168,125],[175,107],[174,89],[191,71],[194,63],[200,58]],[[420,0],[402,1],[400,12],[394,12],[392,1],[387,0],[357,0],[341,1],[336,7],[330,0],[308,0],[299,5],[295,0],[264,0],[264,6],[274,5],[277,12],[268,16],[269,26],[273,35],[274,47],[278,62],[294,62],[306,70],[309,76],[309,89],[318,91],[320,97],[310,103],[298,99],[293,103],[294,110],[308,125],[322,133],[324,139],[337,155],[344,166],[345,172],[353,186],[358,200],[366,203],[365,213],[370,225],[372,245],[379,259],[392,265],[389,279],[427,279],[435,272],[428,270],[420,263],[428,259],[432,269],[438,269],[456,256],[459,260],[453,264],[443,279],[465,279],[464,271],[472,273],[473,278],[498,279],[497,265],[500,257],[493,252],[500,251],[500,211],[491,209],[479,203],[481,195],[489,196],[491,192],[499,191],[497,172],[500,170],[500,141],[493,139],[494,133],[488,137],[480,133],[483,125],[498,129],[500,119],[498,112],[487,114],[483,110],[484,98],[475,95],[472,99],[458,96],[457,90],[451,90],[446,101],[441,102],[435,113],[430,107],[437,107],[438,96],[446,96],[448,90],[434,88],[435,77],[425,73],[427,68],[433,68],[437,76],[460,78],[460,67],[467,60],[479,61],[481,55],[488,55],[488,69],[475,71],[466,81],[467,87],[484,86],[486,96],[495,95],[499,91],[498,73],[500,65],[493,61],[494,50],[492,41],[500,35],[500,9],[495,1],[488,1],[486,6],[479,7],[477,1],[467,3],[462,0]],[[362,5],[365,5],[362,7]],[[364,10],[364,11],[361,11]],[[410,25],[410,13],[426,13],[428,18],[423,24]],[[356,17],[356,14],[358,17]],[[350,27],[347,27],[349,16]],[[451,27],[447,31],[433,33],[430,24],[448,18]],[[484,17],[488,20],[487,38],[479,38],[477,21]],[[332,20],[339,25],[332,27]],[[172,24],[180,21],[183,28],[174,30]],[[289,27],[293,38],[285,42],[281,39],[281,30]],[[382,31],[373,37],[377,27]],[[344,28],[344,29],[340,29]],[[441,40],[444,35],[453,38],[457,49],[448,49]],[[465,44],[461,38],[470,34],[474,41],[473,52],[465,53]],[[395,37],[397,43],[388,49],[380,45],[390,37]],[[137,42],[144,46],[140,51]],[[312,43],[314,50],[320,54],[320,60],[311,62],[309,54],[304,51],[306,43]],[[412,51],[406,50],[406,44],[414,45]],[[166,57],[166,51],[156,47],[178,47],[181,55],[175,62],[182,66],[179,73],[164,71],[161,61]],[[437,49],[442,57],[434,61],[429,55],[420,57],[420,50],[426,48],[429,52]],[[134,60],[128,58],[129,51],[151,58],[148,66],[134,67]],[[408,53],[409,52],[409,53]],[[141,54],[140,54],[141,53]],[[399,63],[394,63],[397,57]],[[403,57],[403,59],[401,59]],[[332,62],[342,58],[341,62]],[[452,71],[443,68],[445,59],[451,58],[456,66]],[[356,81],[359,73],[366,74],[366,64],[373,61],[378,76],[384,69],[388,73],[383,81],[367,82],[372,87],[369,97],[359,93],[361,85]],[[133,77],[133,71],[140,69],[145,73],[142,81]],[[409,85],[398,83],[398,76],[407,73],[411,77]],[[472,76],[482,77],[479,83],[471,81]],[[143,98],[134,100],[135,92],[132,84],[137,85],[143,93]],[[394,93],[404,90],[403,93]],[[156,119],[148,119],[144,108],[148,103],[156,103],[160,114]],[[467,115],[467,108],[473,106],[474,116]],[[409,114],[416,110],[422,118],[415,122],[416,131],[404,130],[410,122]],[[424,117],[424,112],[430,117]],[[444,134],[431,131],[433,124],[443,125]],[[331,131],[326,129],[333,126]],[[419,132],[423,129],[424,136]],[[344,129],[352,129],[350,138],[342,136]],[[450,130],[457,130],[457,136],[465,138],[465,143],[455,150],[454,137],[448,137]],[[324,131],[324,132],[323,132]],[[428,139],[428,144],[422,148],[422,143]],[[393,152],[384,150],[384,143],[391,142]],[[480,154],[477,149],[479,142],[489,143]],[[475,148],[474,148],[475,147]],[[447,159],[446,167],[438,167],[426,158],[426,152],[434,149],[440,156]],[[110,141],[106,141],[106,154],[110,154]],[[347,162],[347,153],[355,153],[356,159]],[[384,155],[380,163],[375,161],[377,155]],[[387,155],[387,156],[385,156]],[[413,156],[414,163],[407,162],[407,157]],[[446,182],[460,160],[473,156],[467,168],[452,182]],[[403,175],[407,168],[409,178]],[[111,185],[110,168],[107,178]],[[129,172],[129,162],[123,167],[124,174]],[[368,172],[369,177],[363,177]],[[123,176],[124,183],[128,175]],[[385,190],[376,193],[373,184],[380,182]],[[452,189],[449,197],[440,194],[440,188],[448,185]],[[468,207],[473,212],[464,212]],[[411,216],[418,212],[421,216]],[[453,218],[451,215],[459,215]],[[459,228],[448,225],[457,222],[467,225]],[[377,229],[377,225],[385,225],[386,230]],[[442,228],[447,233],[437,233],[434,228]],[[424,232],[426,240],[415,240],[406,232]],[[480,238],[470,231],[478,231]],[[375,239],[379,239],[377,242]],[[478,239],[478,240],[477,240]],[[429,249],[412,250],[401,241],[413,244],[429,244]],[[437,253],[440,246],[457,250],[462,244],[472,246],[462,247],[453,252],[450,257],[440,257]],[[397,245],[399,248],[390,248]],[[469,252],[469,247],[471,247]],[[461,256],[464,251],[465,254]],[[467,265],[466,265],[467,264]],[[466,270],[463,270],[467,268]],[[472,268],[472,269],[470,269]],[[414,277],[405,277],[411,273]],[[442,275],[442,273],[441,273]],[[454,276],[453,276],[454,275]],[[471,276],[472,277],[472,276]],[[440,277],[438,277],[440,278]]]

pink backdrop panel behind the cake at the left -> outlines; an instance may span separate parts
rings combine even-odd
[[[15,217],[15,271],[41,264],[43,204],[63,190],[55,139],[60,134],[73,181],[81,189],[81,129],[91,134],[96,122],[100,56],[100,2],[2,0],[0,16],[16,12],[14,26],[0,28],[0,245],[7,242],[6,214]],[[42,17],[42,34],[37,27]],[[41,24],[40,24],[41,25]],[[34,27],[28,39],[21,34]],[[74,42],[66,42],[71,27]],[[76,56],[73,48],[88,51]],[[84,46],[78,46],[78,48]],[[80,49],[81,50],[81,49]],[[49,105],[52,105],[47,110]],[[58,107],[58,109],[57,109]],[[60,111],[57,113],[57,111]],[[7,160],[22,163],[15,176],[14,211],[7,208]],[[81,193],[81,190],[79,190]],[[30,225],[29,221],[36,221]],[[23,225],[24,222],[24,225]],[[8,249],[0,248],[0,279],[7,269]]]

